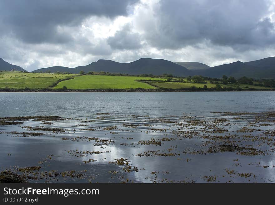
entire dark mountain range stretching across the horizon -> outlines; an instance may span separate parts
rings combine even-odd
[[[20,66],[15,66],[3,61],[0,58],[0,70],[25,71]],[[98,60],[86,66],[74,68],[63,66],[52,66],[40,68],[32,72],[70,72],[78,74],[80,71],[105,71],[110,73],[122,73],[129,75],[153,74],[162,75],[163,73],[173,76],[193,76],[202,75],[213,78],[221,78],[223,75],[240,78],[247,76],[250,78],[273,78],[275,79],[275,57],[268,57],[257,61],[241,62],[236,61],[229,64],[210,67],[199,62],[172,62],[163,59],[141,58],[130,63],[119,63],[111,60]]]

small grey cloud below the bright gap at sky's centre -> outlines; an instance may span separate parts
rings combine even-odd
[[[142,46],[140,35],[132,32],[129,24],[124,26],[121,31],[116,32],[113,37],[109,37],[107,42],[113,49],[118,50],[133,50]]]

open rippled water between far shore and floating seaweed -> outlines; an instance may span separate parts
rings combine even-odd
[[[215,111],[273,110],[275,92],[0,93],[0,105],[1,116],[90,117],[97,112],[122,115],[207,115]]]

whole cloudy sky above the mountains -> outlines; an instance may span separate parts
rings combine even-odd
[[[0,58],[27,71],[99,59],[209,66],[275,56],[275,0],[1,0]]]

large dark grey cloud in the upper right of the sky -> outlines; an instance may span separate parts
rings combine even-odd
[[[266,18],[270,1],[161,0],[145,38],[158,48],[178,49],[205,40],[249,49],[274,45],[274,23]]]

